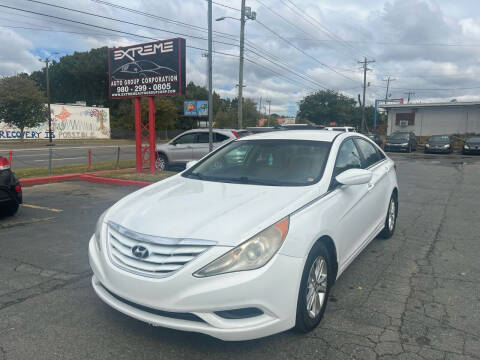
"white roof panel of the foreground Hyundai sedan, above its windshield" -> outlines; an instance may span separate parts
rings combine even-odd
[[[245,136],[244,140],[314,140],[332,142],[338,135],[348,134],[343,131],[329,130],[284,130],[258,133]]]

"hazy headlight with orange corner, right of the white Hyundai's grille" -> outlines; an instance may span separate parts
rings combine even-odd
[[[289,224],[290,219],[287,216],[212,261],[193,275],[206,277],[262,267],[270,261],[282,246],[283,240],[287,236]]]

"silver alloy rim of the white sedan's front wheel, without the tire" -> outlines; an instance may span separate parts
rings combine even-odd
[[[327,292],[327,262],[318,256],[312,263],[307,283],[307,313],[312,319],[320,313]]]

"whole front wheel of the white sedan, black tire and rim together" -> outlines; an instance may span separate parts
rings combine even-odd
[[[315,270],[318,270],[317,274],[315,274]],[[333,276],[334,271],[330,253],[324,244],[317,242],[310,254],[308,254],[298,291],[297,318],[295,322],[295,330],[297,332],[310,332],[322,320],[327,308],[328,294],[333,285]],[[316,283],[313,284],[312,281]],[[310,301],[314,302],[309,306]]]

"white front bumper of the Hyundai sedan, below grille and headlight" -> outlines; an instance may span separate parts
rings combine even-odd
[[[155,279],[121,270],[105,250],[105,244],[99,250],[92,237],[92,286],[105,303],[135,319],[230,341],[260,338],[295,325],[303,258],[277,254],[260,269],[194,277],[227,250],[215,246],[173,275]],[[227,318],[218,313],[252,308],[261,314]]]

